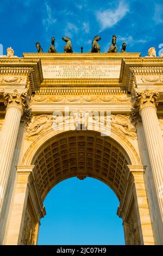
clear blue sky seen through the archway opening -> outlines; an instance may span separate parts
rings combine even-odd
[[[124,245],[115,193],[97,179],[66,179],[45,199],[39,245]],[[48,234],[48,235],[47,235]]]

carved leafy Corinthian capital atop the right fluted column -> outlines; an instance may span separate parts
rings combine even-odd
[[[158,99],[159,93],[155,90],[135,90],[135,95],[133,96],[133,107],[141,114],[142,109],[145,107],[153,107],[156,109],[158,106]]]

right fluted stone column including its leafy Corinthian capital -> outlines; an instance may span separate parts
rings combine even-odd
[[[154,185],[160,206],[163,221],[163,148],[161,129],[156,115],[159,93],[146,89],[143,92],[135,92],[134,107],[142,118],[143,128],[147,142],[149,161],[151,163]]]

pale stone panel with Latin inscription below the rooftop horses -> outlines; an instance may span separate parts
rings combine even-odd
[[[43,78],[119,78],[121,61],[42,63]]]

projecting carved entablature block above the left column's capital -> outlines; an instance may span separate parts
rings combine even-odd
[[[29,87],[32,93],[43,80],[41,60],[38,58],[0,58],[0,93],[5,89]]]

